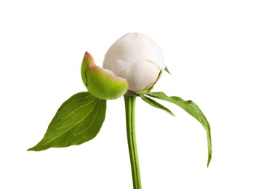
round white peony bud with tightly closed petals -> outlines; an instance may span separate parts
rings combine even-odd
[[[147,92],[165,68],[164,55],[148,36],[127,33],[108,49],[103,68],[127,79],[130,92]]]

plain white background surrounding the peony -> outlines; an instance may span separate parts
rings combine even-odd
[[[143,188],[256,188],[255,1],[1,1],[0,188],[132,188],[124,100],[108,101],[94,140],[41,152],[36,145],[71,95],[86,91],[84,52],[102,65],[125,33],[150,36],[172,75],[154,92],[193,100],[203,127],[137,98]]]

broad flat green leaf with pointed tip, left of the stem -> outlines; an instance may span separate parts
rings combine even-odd
[[[57,110],[43,139],[28,150],[40,151],[80,145],[92,140],[105,119],[106,100],[100,100],[89,92],[74,94]]]

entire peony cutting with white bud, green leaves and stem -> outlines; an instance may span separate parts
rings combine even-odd
[[[135,100],[142,100],[174,116],[171,110],[153,98],[172,102],[196,118],[207,132],[208,161],[212,158],[209,122],[196,103],[164,92],[151,92],[163,71],[164,54],[155,41],[141,33],[127,33],[114,42],[105,53],[103,68],[85,52],[81,79],[88,92],[74,94],[57,110],[42,140],[28,150],[46,150],[80,145],[92,140],[105,120],[106,101],[124,96],[127,142],[132,170],[133,188],[141,188],[140,166],[135,136]]]

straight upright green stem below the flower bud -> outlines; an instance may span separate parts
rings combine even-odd
[[[124,95],[125,113],[127,120],[127,140],[129,159],[131,161],[133,189],[141,189],[140,166],[137,156],[137,144],[135,135],[135,96]]]

